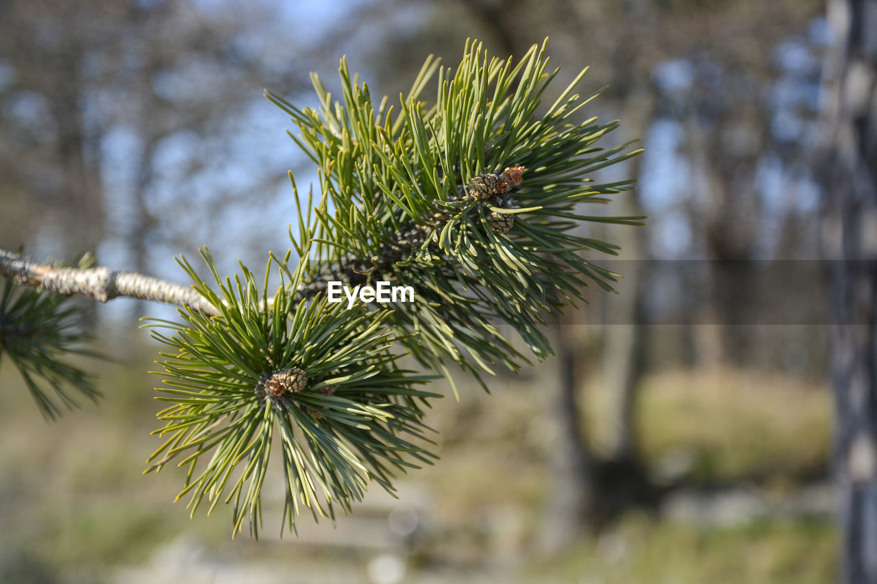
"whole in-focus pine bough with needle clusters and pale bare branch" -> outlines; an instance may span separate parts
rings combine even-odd
[[[263,279],[242,264],[223,277],[207,249],[211,281],[178,260],[191,288],[0,251],[0,355],[54,417],[75,404],[73,395],[97,395],[86,374],[64,364],[86,339],[61,295],[174,303],[177,320],[147,320],[168,347],[157,388],[168,407],[156,431],[165,441],[146,464],[147,472],[170,462],[188,469],[178,498],[189,498],[193,514],[230,502],[232,535],[246,521],[258,536],[275,433],[290,531],[303,508],[334,521],[371,481],[392,491],[396,474],[436,459],[424,410],[440,395],[428,383],[446,377],[456,394],[456,365],[487,388],[484,374],[529,362],[500,324],[535,360],[551,355],[548,319],[583,301],[588,282],[611,290],[618,277],[580,255],[615,254],[617,246],[576,228],[642,219],[583,214],[581,203],[608,203],[631,189],[631,181],[597,184],[591,174],[639,151],[596,145],[618,122],[582,119],[600,93],[574,93],[585,70],[545,107],[559,71],[547,61],[545,44],[502,61],[467,42],[457,68],[428,58],[397,105],[375,103],[344,60],[340,101],[317,75],[318,110],[268,92],[296,125],[289,135],[317,165],[319,182],[316,195],[311,187],[300,196],[289,174],[299,202],[292,249],[269,254]],[[435,101],[424,103],[433,81]],[[281,282],[274,291],[271,274]],[[330,302],[331,282],[362,290],[380,281],[413,288],[414,302]],[[403,369],[406,354],[427,374]]]

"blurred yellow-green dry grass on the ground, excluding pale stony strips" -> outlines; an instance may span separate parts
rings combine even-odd
[[[100,581],[118,566],[144,566],[161,545],[184,535],[228,565],[255,562],[296,573],[344,566],[345,581],[350,573],[358,574],[353,581],[368,581],[374,549],[333,545],[332,539],[349,541],[341,536],[359,529],[354,520],[370,513],[376,518],[367,524],[386,528],[380,515],[385,511],[375,510],[384,509],[386,497],[370,495],[353,517],[339,519],[338,531],[323,533],[319,544],[306,537],[276,540],[273,516],[266,516],[264,541],[254,543],[245,534],[231,542],[225,509],[189,521],[184,503],[172,502],[182,486],[176,469],[141,476],[158,444],[148,436],[159,404],[150,390],[156,380],[140,373],[147,368],[146,359],[132,369],[107,367],[101,406],[46,424],[11,367],[0,367],[0,575]],[[834,531],[818,522],[702,531],[629,517],[614,536],[582,540],[548,564],[539,560],[532,542],[551,481],[547,460],[557,427],[548,407],[554,383],[549,363],[526,385],[498,379],[494,395],[461,388],[460,402],[448,397],[435,403],[431,422],[441,432],[442,460],[401,482],[400,504],[416,503],[422,513],[419,539],[400,548],[410,553],[413,581],[441,581],[442,574],[483,580],[496,574],[496,566],[505,566],[503,578],[520,581],[825,581],[834,565]],[[606,396],[595,381],[585,391],[588,424],[602,435],[599,412]],[[831,404],[816,385],[733,370],[676,371],[646,378],[643,392],[638,416],[650,461],[688,452],[704,480],[794,475],[824,464]]]

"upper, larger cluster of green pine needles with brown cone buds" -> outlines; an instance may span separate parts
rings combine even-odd
[[[545,108],[559,71],[548,70],[545,44],[513,62],[467,43],[457,68],[438,62],[427,59],[395,118],[389,99],[376,105],[344,60],[343,101],[333,102],[317,75],[318,111],[267,93],[289,113],[300,132],[296,144],[324,177],[329,203],[316,210],[314,237],[325,253],[310,270],[342,280],[355,265],[355,283],[388,280],[417,290],[416,305],[394,305],[388,322],[433,371],[446,371],[448,360],[476,376],[496,366],[517,371],[526,360],[492,323],[511,324],[542,360],[552,354],[540,326],[548,315],[583,299],[588,281],[612,289],[615,276],[579,252],[615,254],[617,246],[576,230],[588,222],[641,224],[644,217],[582,212],[633,183],[595,184],[590,174],[640,151],[631,150],[634,142],[596,146],[619,123],[581,116],[600,93],[575,93],[587,69]],[[434,78],[438,91],[428,106],[421,94]],[[467,196],[474,177],[507,167],[524,167],[523,182],[509,193],[513,204]],[[511,225],[508,232],[494,227],[501,222]]]

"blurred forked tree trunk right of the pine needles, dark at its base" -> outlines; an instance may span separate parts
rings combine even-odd
[[[627,27],[613,51],[610,87],[621,106],[625,120],[624,139],[642,136],[652,118],[653,97],[645,76],[630,75],[629,67],[638,63],[643,46],[638,35],[650,19],[650,7],[644,0],[624,3]],[[638,176],[640,157],[631,161],[629,172]],[[619,215],[640,215],[635,192],[620,196],[624,205]],[[638,325],[642,298],[638,281],[645,257],[643,230],[623,228],[613,232],[627,260],[624,266],[626,293],[612,296],[612,313],[618,322],[605,328],[603,352],[606,382],[610,393],[610,452],[605,459],[595,457],[581,428],[579,385],[585,376],[583,363],[594,355],[594,347],[585,347],[588,338],[583,325],[575,326],[574,313],[560,326],[557,349],[560,362],[560,387],[554,401],[553,416],[560,427],[552,451],[553,492],[541,526],[544,550],[558,550],[582,531],[594,530],[632,504],[647,500],[648,483],[637,449],[637,426],[634,412],[638,381],[643,373],[644,338]],[[617,325],[616,325],[617,324]]]

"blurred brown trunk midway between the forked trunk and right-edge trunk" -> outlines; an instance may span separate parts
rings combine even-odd
[[[745,323],[747,302],[745,262],[752,260],[759,236],[762,207],[755,176],[759,158],[770,144],[770,112],[763,100],[753,99],[757,82],[740,74],[733,64],[726,75],[736,84],[724,91],[696,85],[696,116],[687,122],[688,158],[702,174],[707,196],[690,204],[699,226],[703,257],[708,261],[707,302],[696,327],[700,367],[741,366],[751,358],[751,330]],[[757,79],[770,79],[760,72]]]

